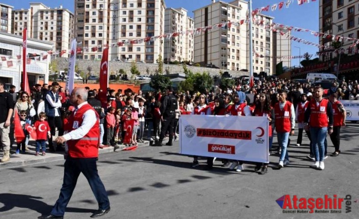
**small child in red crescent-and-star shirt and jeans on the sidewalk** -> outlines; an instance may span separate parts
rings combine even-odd
[[[38,156],[40,153],[40,146],[42,148],[42,155],[46,155],[46,140],[47,137],[51,138],[50,126],[46,119],[46,114],[41,112],[39,114],[39,120],[34,124],[34,130],[36,130],[36,153]]]

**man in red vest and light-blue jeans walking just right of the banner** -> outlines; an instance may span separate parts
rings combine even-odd
[[[286,100],[287,92],[279,93],[279,103],[274,106],[276,131],[279,147],[282,148],[278,168],[281,169],[289,164],[287,144],[289,134],[294,135],[295,112],[292,103]]]

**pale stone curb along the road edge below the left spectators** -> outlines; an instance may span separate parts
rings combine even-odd
[[[144,141],[143,143],[138,143],[138,147],[146,147],[149,146],[149,141]],[[119,148],[115,152],[121,152],[125,148],[125,145],[120,145]],[[109,146],[106,148],[99,148],[99,154],[103,153],[109,153],[113,152],[113,147]],[[44,163],[50,163],[55,161],[61,161],[64,160],[64,154],[63,153],[46,153],[46,156],[38,156],[35,157],[34,154],[30,153],[27,154],[25,159],[16,160],[16,158],[12,158],[14,154],[10,154],[10,161],[6,163],[0,163],[0,170],[3,169],[10,169],[10,168],[19,168],[19,167],[26,167],[29,165],[34,164],[44,164]],[[99,156],[100,157],[100,156]]]

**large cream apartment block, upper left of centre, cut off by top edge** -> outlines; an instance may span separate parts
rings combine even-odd
[[[163,57],[163,41],[138,41],[164,34],[163,0],[75,1],[75,35],[82,42],[83,59],[102,58],[103,45],[110,45],[109,58],[156,63]],[[130,45],[112,46],[131,40]]]

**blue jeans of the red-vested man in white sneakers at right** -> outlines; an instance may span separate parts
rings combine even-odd
[[[312,147],[315,155],[315,161],[323,161],[325,154],[324,140],[326,139],[327,127],[310,128],[310,135],[312,137]]]

